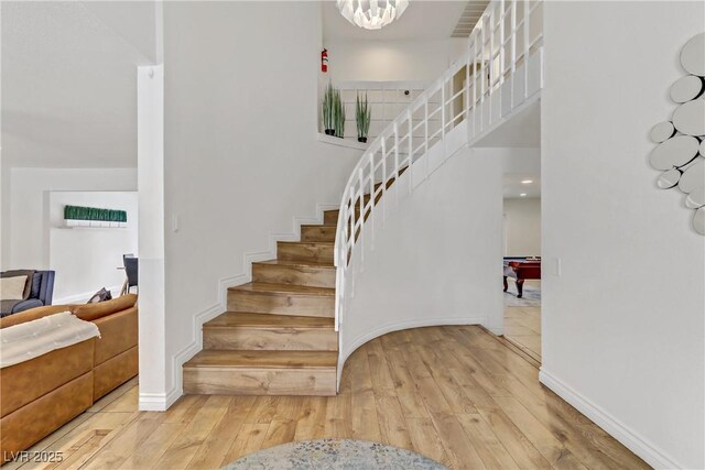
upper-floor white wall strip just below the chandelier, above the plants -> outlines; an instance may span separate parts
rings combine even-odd
[[[438,78],[463,53],[467,40],[328,40],[328,77],[336,81],[422,81]]]

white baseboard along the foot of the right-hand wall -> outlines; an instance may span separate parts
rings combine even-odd
[[[634,452],[647,463],[655,469],[682,469],[685,468],[668,456],[663,450],[643,438],[639,433],[630,429],[615,416],[603,409],[599,405],[581,395],[568,384],[541,368],[539,381],[551,389],[556,395],[565,400],[578,412],[587,416],[593,423],[601,427],[629,450]]]

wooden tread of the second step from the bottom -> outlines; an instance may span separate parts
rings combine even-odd
[[[325,328],[335,327],[333,318],[326,317],[300,317],[293,315],[251,314],[245,311],[226,311],[204,324],[204,328]]]

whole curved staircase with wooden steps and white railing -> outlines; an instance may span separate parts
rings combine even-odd
[[[539,100],[541,9],[542,0],[489,3],[464,56],[368,145],[339,210],[302,226],[301,241],[278,242],[276,260],[252,263],[252,282],[228,289],[228,311],[203,326],[204,350],[183,365],[185,393],[336,394],[338,368],[380,331],[379,317],[350,311],[365,252],[449,157]]]

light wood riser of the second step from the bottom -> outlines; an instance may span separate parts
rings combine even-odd
[[[337,351],[333,328],[204,328],[204,349],[256,351]]]

